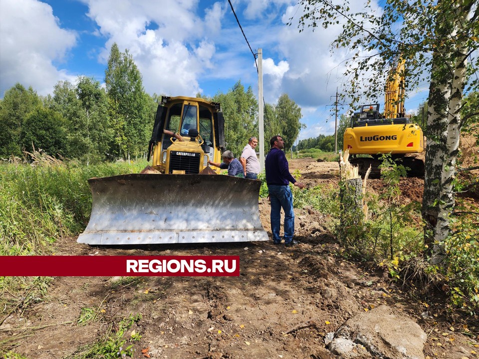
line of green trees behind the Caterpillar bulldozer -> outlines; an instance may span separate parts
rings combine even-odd
[[[105,87],[86,76],[75,84],[59,81],[47,96],[19,83],[5,91],[0,99],[0,159],[33,149],[87,164],[145,156],[161,96],[145,92],[133,57],[128,49],[120,52],[116,43],[104,80]],[[227,93],[209,99],[221,103],[227,148],[239,156],[248,138],[258,136],[258,101],[251,87],[245,89],[238,81]],[[303,126],[301,109],[283,94],[277,104],[266,104],[264,113],[265,149],[277,134],[289,149]]]

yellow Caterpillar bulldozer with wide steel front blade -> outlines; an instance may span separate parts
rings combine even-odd
[[[77,242],[90,245],[268,240],[259,219],[261,182],[220,176],[220,104],[163,96],[148,147],[152,169],[89,179],[92,209]]]

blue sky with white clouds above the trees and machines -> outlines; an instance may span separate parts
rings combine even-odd
[[[336,88],[347,86],[345,51],[329,51],[340,28],[299,33],[296,1],[232,3],[251,48],[262,48],[265,101],[274,104],[287,93],[301,107],[307,127],[299,139],[333,134],[329,105]],[[288,26],[291,16],[296,20]],[[129,49],[150,94],[213,96],[238,80],[257,93],[253,55],[227,0],[1,0],[0,97],[16,82],[40,95],[79,75],[103,82],[114,42]],[[408,112],[427,94],[425,88],[409,93]]]

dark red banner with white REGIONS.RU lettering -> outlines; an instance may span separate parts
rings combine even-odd
[[[0,276],[240,275],[240,256],[0,256]]]

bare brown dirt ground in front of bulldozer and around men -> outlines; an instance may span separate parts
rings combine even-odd
[[[290,169],[299,169],[308,187],[336,186],[339,180],[333,162],[292,160]],[[383,187],[381,179],[368,182],[368,190],[379,193]],[[401,179],[400,187],[405,202],[421,201],[423,179]],[[259,209],[271,238],[266,198]],[[54,277],[44,297],[4,321],[0,340],[18,338],[13,352],[26,358],[72,358],[112,324],[114,329],[121,319],[141,314],[126,334],[141,335],[133,358],[339,358],[325,349],[325,335],[385,304],[427,334],[425,358],[477,358],[478,338],[448,318],[444,298],[426,303],[382,270],[345,260],[326,229],[331,218],[312,208],[295,214],[301,244],[294,247],[270,240],[103,248],[65,238],[56,255],[236,255],[240,276]],[[82,308],[95,311],[96,320],[80,325]]]

